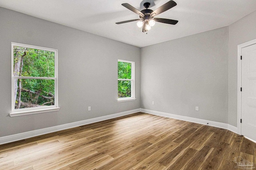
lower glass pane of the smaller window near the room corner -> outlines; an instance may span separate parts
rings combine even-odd
[[[118,80],[118,98],[131,97],[131,81]]]

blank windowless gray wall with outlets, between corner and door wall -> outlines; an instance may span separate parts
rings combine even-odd
[[[143,47],[140,63],[141,108],[228,123],[228,27]]]

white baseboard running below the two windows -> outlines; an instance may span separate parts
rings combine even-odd
[[[15,135],[0,137],[0,145],[5,144],[5,143],[14,142],[14,141],[19,141],[19,140],[22,140],[22,139],[27,139],[27,138],[30,138],[30,137],[44,135],[44,134],[47,134],[47,133],[61,131],[61,130],[69,129],[69,128],[72,128],[72,127],[78,127],[78,126],[87,125],[87,124],[90,124],[90,123],[95,123],[95,122],[99,122],[99,121],[113,119],[113,118],[116,118],[116,117],[121,117],[121,116],[124,116],[124,115],[129,115],[129,114],[137,113],[137,112],[140,112],[140,109],[134,109],[134,110],[124,111],[124,112],[120,112],[120,113],[116,113],[116,114],[112,114],[112,115],[106,115],[106,116],[96,117],[96,118],[92,118],[92,119],[88,119],[88,120],[77,121],[77,122],[73,122],[73,123],[67,123],[67,124],[64,124],[64,125],[58,125],[58,126],[54,126],[54,127],[48,127],[48,128],[44,128],[44,129],[38,129],[38,130],[34,130],[34,131],[18,133],[18,134],[15,134]]]

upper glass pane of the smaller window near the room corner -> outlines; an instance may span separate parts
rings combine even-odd
[[[118,61],[118,78],[132,79],[132,63]]]

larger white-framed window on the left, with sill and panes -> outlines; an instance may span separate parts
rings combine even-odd
[[[12,43],[12,113],[57,111],[58,50]]]

